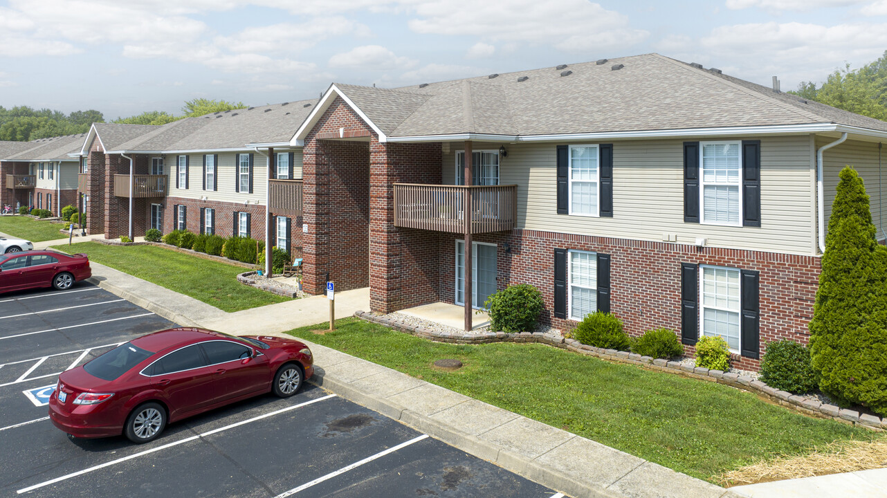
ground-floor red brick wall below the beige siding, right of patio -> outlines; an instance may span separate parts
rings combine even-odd
[[[453,302],[454,240],[440,245],[441,300]],[[536,230],[476,235],[478,242],[498,245],[498,288],[533,284],[546,302],[543,323],[561,329],[576,322],[553,317],[554,249],[606,253],[610,263],[610,308],[625,331],[638,336],[666,327],[680,332],[680,263],[710,264],[760,272],[760,354],[767,342],[781,338],[806,344],[820,275],[820,258],[714,247],[696,248],[663,242],[587,237]],[[503,243],[511,248],[506,253]],[[687,354],[694,348],[685,346]],[[757,370],[759,362],[742,358],[741,369]]]

